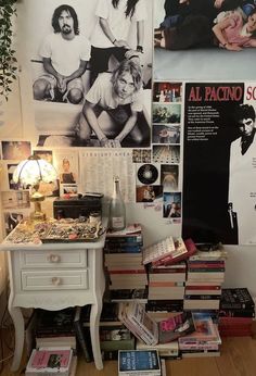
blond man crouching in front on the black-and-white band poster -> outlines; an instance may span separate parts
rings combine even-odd
[[[113,73],[100,74],[88,91],[77,136],[87,146],[90,146],[88,142],[92,131],[101,147],[121,147],[123,141],[128,141],[128,147],[141,146],[150,137],[148,124],[148,131],[141,130],[142,110],[142,73],[139,61],[124,60]],[[106,115],[104,120],[102,113]]]

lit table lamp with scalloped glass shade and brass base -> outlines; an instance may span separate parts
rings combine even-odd
[[[30,155],[27,160],[18,163],[13,173],[13,181],[23,186],[30,186],[30,201],[35,204],[31,220],[44,221],[46,214],[41,211],[41,202],[44,196],[38,191],[40,181],[52,183],[56,179],[57,173],[53,165],[37,155]]]

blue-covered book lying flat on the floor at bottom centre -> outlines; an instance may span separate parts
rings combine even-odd
[[[157,350],[119,351],[118,376],[161,376]]]

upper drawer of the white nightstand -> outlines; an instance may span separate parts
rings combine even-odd
[[[22,268],[37,267],[86,267],[87,250],[20,251]]]

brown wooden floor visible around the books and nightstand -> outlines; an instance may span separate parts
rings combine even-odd
[[[24,375],[25,359],[20,372],[11,373],[5,365],[1,376]],[[194,358],[166,362],[167,376],[255,376],[256,338],[223,338],[221,355],[218,358]],[[116,376],[117,362],[104,362],[104,368],[98,371],[93,363],[78,361],[76,376]]]

